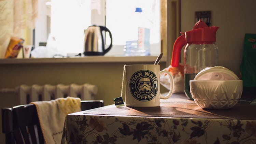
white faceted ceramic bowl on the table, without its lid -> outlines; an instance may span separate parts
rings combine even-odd
[[[203,109],[229,109],[237,104],[243,91],[241,80],[193,80],[190,92],[195,103]]]

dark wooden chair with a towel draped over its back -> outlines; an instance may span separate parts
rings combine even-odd
[[[103,100],[81,101],[81,110],[104,106]],[[43,144],[37,110],[33,104],[2,108],[2,131],[6,144]]]

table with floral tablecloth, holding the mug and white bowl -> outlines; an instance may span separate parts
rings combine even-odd
[[[228,110],[204,110],[184,93],[158,107],[115,107],[69,114],[61,143],[256,143],[255,93]]]

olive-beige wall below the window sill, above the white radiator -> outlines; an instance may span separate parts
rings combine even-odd
[[[105,105],[110,105],[114,104],[114,98],[120,96],[124,64],[153,63],[154,61],[152,63],[0,64],[0,88],[14,88],[21,84],[89,83],[98,87],[95,99],[104,100]],[[161,70],[165,68],[165,62],[160,64]],[[161,87],[161,92],[166,91]],[[14,105],[18,105],[17,95],[0,93],[1,108]],[[4,134],[1,133],[0,140],[3,139]]]

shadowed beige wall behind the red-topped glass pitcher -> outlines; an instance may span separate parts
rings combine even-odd
[[[191,30],[195,11],[212,11],[218,26],[219,66],[239,73],[245,33],[256,33],[255,0],[181,0],[181,31]]]

